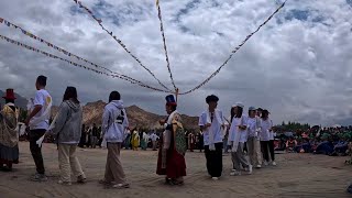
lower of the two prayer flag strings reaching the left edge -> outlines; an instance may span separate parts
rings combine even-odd
[[[1,19],[0,19],[0,22],[1,22]],[[95,72],[95,73],[97,73],[97,74],[99,74],[99,75],[105,75],[105,76],[109,76],[109,77],[112,77],[112,78],[120,78],[120,79],[127,80],[127,81],[129,81],[129,82],[131,82],[131,84],[135,84],[135,85],[139,85],[139,86],[141,86],[141,87],[148,88],[148,89],[152,89],[152,90],[155,90],[155,91],[169,92],[169,91],[166,91],[166,90],[163,90],[163,89],[158,89],[158,88],[155,88],[155,87],[145,85],[145,84],[140,82],[139,80],[135,80],[135,79],[130,78],[130,77],[128,78],[128,77],[121,76],[121,75],[108,74],[108,73],[106,73],[106,72],[100,72],[100,70],[98,70],[98,69],[90,68],[90,67],[87,67],[87,66],[81,65],[81,64],[77,64],[77,63],[72,62],[72,61],[69,61],[69,59],[66,59],[66,58],[63,58],[63,57],[53,55],[53,54],[51,54],[51,53],[47,53],[47,52],[37,50],[37,48],[33,47],[33,46],[26,45],[26,44],[24,44],[24,43],[21,43],[21,42],[11,40],[11,38],[9,38],[9,37],[7,37],[7,36],[4,36],[4,35],[1,35],[1,34],[0,34],[0,38],[3,40],[3,41],[7,41],[8,43],[11,43],[11,44],[14,44],[14,45],[24,47],[24,48],[26,48],[26,50],[29,50],[29,51],[32,51],[32,52],[36,52],[36,53],[38,53],[38,54],[45,55],[45,56],[51,57],[51,58],[53,58],[53,59],[59,59],[59,61],[66,62],[66,63],[68,63],[69,65],[73,65],[73,66],[75,66],[75,67],[84,68],[84,69],[90,70],[90,72]]]

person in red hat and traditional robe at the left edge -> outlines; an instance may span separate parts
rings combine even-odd
[[[0,168],[11,172],[12,164],[19,163],[18,111],[13,89],[7,89],[7,95],[2,98],[6,105],[0,112]]]

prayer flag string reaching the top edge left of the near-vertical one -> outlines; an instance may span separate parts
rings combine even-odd
[[[127,48],[127,46],[122,43],[121,40],[117,38],[117,36],[116,36],[111,31],[109,31],[108,29],[105,28],[105,25],[102,25],[102,20],[101,20],[101,19],[98,19],[98,18],[94,14],[94,12],[92,12],[91,10],[89,10],[86,6],[84,6],[84,4],[81,3],[81,1],[78,1],[78,0],[73,0],[73,1],[75,1],[75,3],[79,6],[79,8],[86,10],[86,12],[99,24],[99,26],[100,26],[103,31],[106,31],[116,42],[118,42],[119,45],[120,45],[134,61],[136,61],[141,67],[143,67],[147,73],[150,73],[150,74],[153,76],[153,78],[154,78],[155,80],[157,80],[157,82],[158,82],[163,88],[165,88],[165,89],[168,90],[168,91],[172,91],[172,90],[170,90],[169,88],[167,88],[158,78],[156,78],[156,76],[154,75],[154,73],[152,73],[146,66],[144,66],[144,65],[142,64],[142,62],[141,62],[134,54],[131,53],[131,51],[129,51],[129,50]]]

